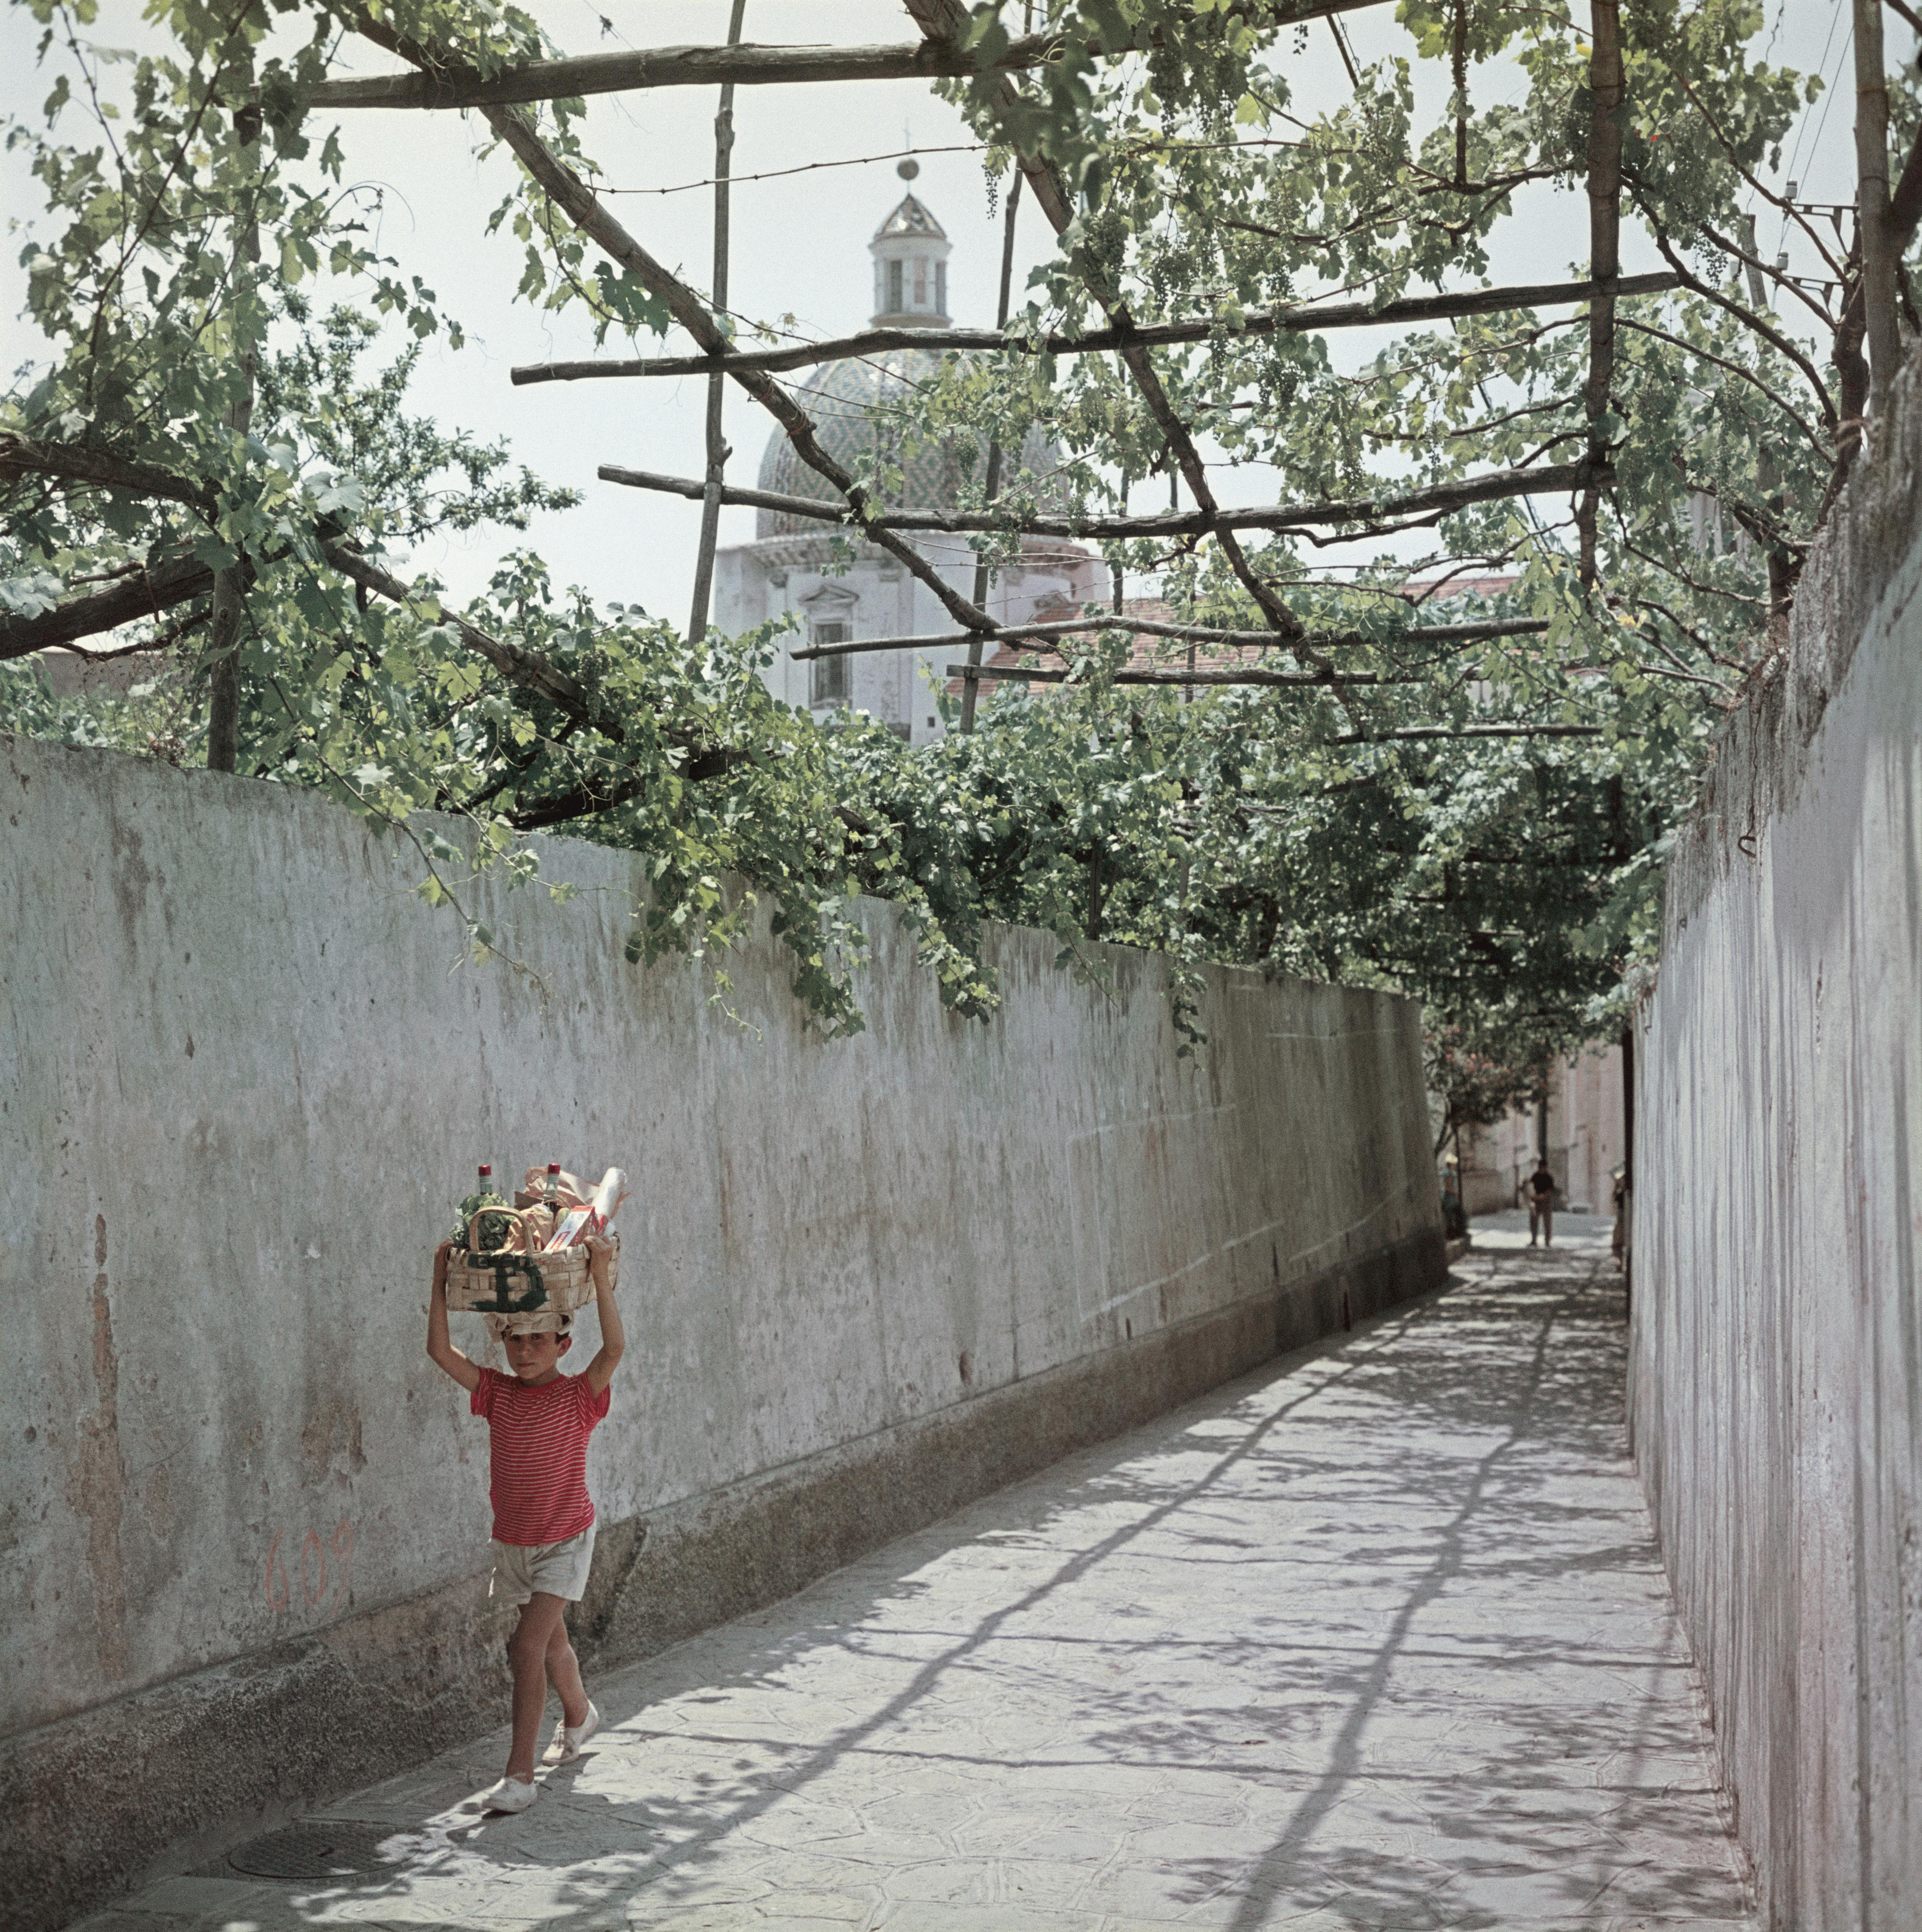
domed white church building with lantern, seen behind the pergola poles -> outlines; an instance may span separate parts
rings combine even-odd
[[[912,160],[900,174],[912,180]],[[941,222],[908,193],[867,243],[873,259],[877,328],[948,328],[948,242]],[[889,350],[881,355],[823,363],[796,396],[813,417],[821,444],[860,475],[879,456],[898,466],[900,485],[889,495],[904,508],[956,508],[987,469],[987,439],[974,431],[916,437],[902,421],[902,404],[918,383],[941,367],[929,350]],[[1059,502],[1053,483],[1055,446],[1032,431],[1014,458],[1003,458],[1004,487],[1028,479],[1043,502]],[[759,487],[786,497],[838,502],[834,487],[809,469],[778,429],[761,456]],[[738,636],[769,620],[792,628],[765,676],[777,697],[827,719],[836,709],[867,711],[910,744],[945,730],[939,696],[948,682],[956,645],[918,651],[875,651],[850,657],[794,661],[794,651],[863,638],[947,636],[954,618],[939,597],[879,545],[852,539],[846,529],[784,510],[755,512],[753,543],[732,545],[715,558],[715,624]],[[974,597],[975,553],[966,537],[916,533],[910,539],[964,597]],[[1097,595],[1099,560],[1082,545],[1030,537],[1018,562],[1001,568],[987,593],[989,612],[1024,624],[1041,612],[1072,614]]]

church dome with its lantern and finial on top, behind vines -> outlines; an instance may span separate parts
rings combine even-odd
[[[914,160],[904,160],[904,180],[919,172]],[[941,222],[910,193],[875,230],[867,243],[875,263],[873,325],[885,328],[947,328],[948,325],[948,242]],[[862,475],[877,439],[889,439],[890,468],[900,469],[900,487],[889,502],[906,510],[954,510],[970,483],[987,479],[987,440],[968,431],[947,437],[918,437],[904,444],[898,421],[900,402],[916,388],[931,383],[947,350],[887,350],[879,355],[852,355],[823,363],[794,400],[813,419],[821,446]],[[1049,435],[1033,427],[1022,440],[1020,454],[1003,452],[1001,487],[1006,491],[1026,471],[1041,483],[1041,500],[1059,502],[1053,483],[1060,452]],[[813,502],[840,502],[840,491],[827,477],[809,469],[794,452],[784,431],[775,431],[761,456],[761,489],[784,497],[807,497]],[[757,537],[790,537],[821,531],[811,518],[790,516],[784,510],[759,510]]]

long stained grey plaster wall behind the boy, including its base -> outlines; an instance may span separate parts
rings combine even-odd
[[[979,1026],[877,906],[825,1043],[765,939],[738,1022],[628,966],[620,852],[493,902],[543,993],[313,794],[0,740],[0,1922],[498,1716],[485,1430],[421,1352],[479,1159],[637,1180],[607,1654],[1441,1277],[1404,1001],[1219,972],[1184,1063],[1155,958],[999,931]]]

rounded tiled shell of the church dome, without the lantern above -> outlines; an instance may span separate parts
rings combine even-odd
[[[796,402],[813,417],[821,446],[856,475],[877,435],[889,435],[894,415],[889,400],[904,396],[941,369],[941,352],[889,350],[883,355],[850,357],[823,363],[815,379],[796,394]],[[898,431],[896,431],[898,435]],[[974,444],[970,448],[970,442]],[[1053,479],[1060,452],[1043,429],[1033,427],[1022,442],[1020,460],[1001,460],[1001,487],[1028,471],[1035,479]],[[966,431],[945,440],[919,440],[902,452],[902,483],[889,500],[908,510],[952,510],[960,504],[962,485],[987,477],[987,440]],[[840,502],[840,493],[827,477],[809,469],[782,431],[775,431],[761,456],[761,489],[786,497],[809,497],[815,502]],[[1060,498],[1053,481],[1039,491],[1045,504]],[[757,537],[788,537],[804,531],[819,533],[825,526],[782,510],[755,512]]]

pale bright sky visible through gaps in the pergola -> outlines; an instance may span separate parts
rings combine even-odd
[[[605,12],[603,12],[605,10]],[[133,0],[100,0],[91,35],[104,46],[151,44]],[[612,46],[668,46],[726,37],[726,0],[535,0],[531,12],[566,52]],[[1366,64],[1406,48],[1393,8],[1344,15],[1356,56]],[[1908,37],[1889,19],[1889,58]],[[46,75],[35,71],[39,27],[23,6],[0,14],[0,112],[37,118]],[[892,0],[748,0],[746,39],[838,44],[912,39],[906,14]],[[1852,87],[1849,85],[1849,0],[1767,0],[1767,60],[1841,79],[1802,116],[1783,166],[1804,195],[1843,201],[1852,193]],[[1296,52],[1283,43],[1277,64],[1288,77],[1294,110],[1335,104],[1348,83],[1333,35],[1317,23]],[[390,71],[377,48],[355,54],[357,71]],[[1441,75],[1431,75],[1441,83]],[[1520,99],[1522,73],[1491,64],[1472,75],[1478,100]],[[1429,91],[1429,112],[1439,95]],[[612,207],[628,230],[661,261],[697,286],[711,270],[713,89],[655,89],[589,102],[585,147],[618,189]],[[608,381],[514,388],[516,363],[595,354],[632,354],[612,340],[595,350],[591,328],[576,315],[551,317],[512,299],[520,245],[487,236],[487,216],[512,185],[512,160],[475,158],[485,126],[460,114],[350,112],[340,116],[348,155],[346,180],[381,195],[377,242],[419,274],[460,317],[467,348],[435,342],[411,392],[413,406],[444,427],[506,439],[518,462],[551,483],[579,489],[585,502],[545,514],[525,537],[483,529],[466,539],[425,547],[413,566],[433,570],[456,593],[485,587],[493,560],[525,543],[551,564],[560,583],[583,583],[603,601],[637,603],[684,622],[693,578],[699,506],[601,483],[595,471],[614,462],[630,468],[699,475],[705,468],[705,381]],[[867,240],[902,195],[896,156],[912,147],[921,172],[916,195],[947,228],[948,305],[956,325],[991,327],[1001,222],[989,209],[979,153],[960,116],[921,83],[867,81],[817,87],[744,87],[736,93],[730,305],[749,317],[794,315],[804,334],[846,334],[865,325],[871,307]],[[960,149],[960,151],[956,151]],[[879,158],[863,158],[879,156]],[[860,160],[856,166],[782,174],[806,162]],[[765,176],[755,180],[755,176]],[[0,158],[0,195],[15,222],[31,214],[35,184],[17,156]],[[1580,195],[1532,189],[1522,213],[1495,247],[1493,280],[1549,280],[1578,274],[1586,251],[1586,207]],[[1016,288],[1045,255],[1047,228],[1032,203],[1018,228]],[[1764,220],[1766,247],[1777,245]],[[19,240],[0,259],[0,365],[14,369],[42,354],[37,334],[17,321],[23,276]],[[1800,267],[1800,263],[1796,263]],[[1625,230],[1625,269],[1659,267],[1653,251]],[[1381,346],[1383,332],[1331,336],[1337,359],[1354,367]],[[651,340],[641,354],[686,352],[676,332]],[[767,417],[742,394],[730,394],[726,433],[734,444],[728,473],[753,481],[767,442]],[[1267,471],[1246,469],[1215,479],[1223,502],[1273,500]],[[724,510],[721,541],[753,535],[751,510]]]

